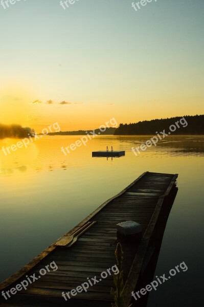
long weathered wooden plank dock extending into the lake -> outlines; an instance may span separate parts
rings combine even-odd
[[[65,301],[62,292],[76,289],[87,277],[100,274],[116,264],[116,224],[135,221],[142,225],[143,237],[140,244],[121,242],[124,251],[125,305],[131,301],[131,292],[137,289],[144,278],[151,278],[160,250],[167,217],[173,204],[177,188],[177,174],[145,172],[119,194],[102,204],[80,224],[53,243],[27,266],[0,284],[0,291],[8,291],[26,279],[26,275],[46,268],[55,261],[58,270],[51,271],[33,282],[27,290],[21,290],[11,298],[0,298],[0,306],[111,306],[113,298],[110,288],[114,286],[112,276],[102,279],[87,292],[78,293]],[[92,225],[71,247],[58,246],[66,242],[86,223]],[[155,256],[156,254],[156,256]],[[152,267],[151,261],[154,259]],[[154,271],[154,270],[153,270]],[[146,276],[146,277],[145,277]],[[142,300],[141,300],[142,302]],[[140,305],[141,305],[140,302]],[[133,302],[134,303],[134,302]],[[137,302],[138,303],[138,302]],[[144,304],[145,305],[145,304]]]

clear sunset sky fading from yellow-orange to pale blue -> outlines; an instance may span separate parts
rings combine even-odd
[[[0,123],[39,133],[55,122],[78,130],[204,114],[203,9],[203,0],[138,11],[132,0],[0,5]]]

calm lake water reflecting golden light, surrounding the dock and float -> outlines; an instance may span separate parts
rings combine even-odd
[[[144,171],[178,173],[155,276],[185,261],[148,307],[201,307],[203,268],[204,137],[168,136],[135,157],[131,147],[148,136],[100,136],[65,156],[81,136],[43,137],[5,156],[0,152],[0,281],[23,267],[57,238]],[[0,148],[16,144],[0,140]],[[93,150],[126,150],[125,157],[92,158]]]

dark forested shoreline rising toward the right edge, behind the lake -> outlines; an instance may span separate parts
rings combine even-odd
[[[179,124],[171,134],[174,135],[204,135],[204,115],[185,116],[188,122],[187,126]],[[165,131],[168,133],[169,127],[179,121],[180,117],[166,119],[154,119],[150,121],[140,121],[132,124],[120,124],[115,131],[115,135],[155,135],[156,131]]]

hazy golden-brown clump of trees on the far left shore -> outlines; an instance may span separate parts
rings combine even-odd
[[[28,135],[32,137],[35,131],[30,127],[21,127],[20,125],[3,125],[0,124],[0,139],[4,138],[27,138]]]

